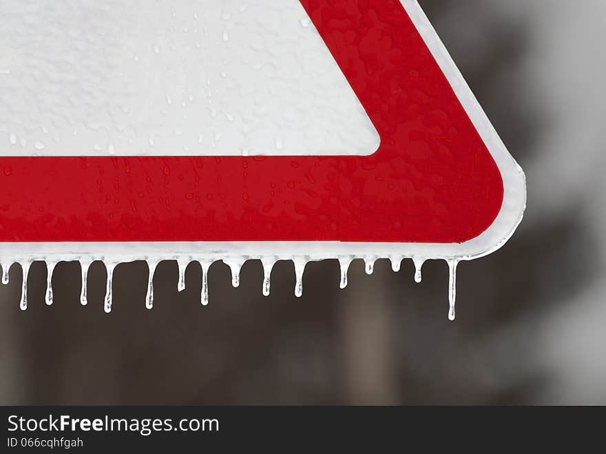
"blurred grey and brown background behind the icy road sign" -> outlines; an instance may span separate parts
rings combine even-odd
[[[46,268],[0,286],[0,404],[606,404],[606,2],[421,0],[510,152],[526,172],[528,207],[500,251],[459,267],[448,322],[448,267],[362,262],[338,289],[336,261],[312,263],[293,296],[291,262],[200,268],[176,290],[175,262],[61,263],[54,305]]]

